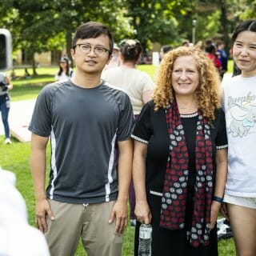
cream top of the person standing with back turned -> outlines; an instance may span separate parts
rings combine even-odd
[[[102,73],[102,79],[126,91],[134,114],[139,114],[144,106],[142,94],[147,90],[154,90],[154,82],[146,72],[123,66],[105,70]]]

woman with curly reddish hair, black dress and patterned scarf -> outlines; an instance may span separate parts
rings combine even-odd
[[[194,47],[162,59],[153,99],[134,127],[134,254],[151,223],[152,255],[217,256],[216,221],[227,172],[218,70]]]

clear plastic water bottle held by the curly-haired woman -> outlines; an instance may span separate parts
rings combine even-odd
[[[151,256],[152,226],[142,224],[139,228],[138,256]]]

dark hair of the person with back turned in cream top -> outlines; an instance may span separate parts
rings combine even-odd
[[[120,51],[124,62],[133,61],[138,62],[142,54],[142,45],[138,40],[127,39],[120,43]]]

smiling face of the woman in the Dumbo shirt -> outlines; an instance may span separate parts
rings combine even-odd
[[[242,31],[234,41],[233,59],[243,77],[256,76],[256,32]]]

